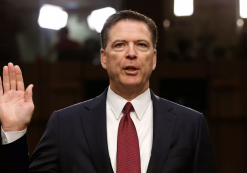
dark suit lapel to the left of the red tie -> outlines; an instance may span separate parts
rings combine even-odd
[[[81,116],[88,147],[98,173],[113,173],[107,146],[106,95],[107,89],[89,101],[85,106],[89,114]]]

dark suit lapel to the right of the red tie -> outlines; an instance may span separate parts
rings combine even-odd
[[[170,148],[176,117],[169,112],[172,108],[164,104],[164,100],[152,92],[151,98],[153,101],[153,146],[147,173],[160,173]]]

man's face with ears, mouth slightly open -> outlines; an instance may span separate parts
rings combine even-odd
[[[108,72],[111,89],[147,89],[156,66],[156,50],[148,26],[132,20],[113,25],[106,49],[101,49],[101,64]]]

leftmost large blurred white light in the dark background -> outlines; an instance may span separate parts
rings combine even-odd
[[[68,14],[59,6],[44,4],[39,12],[38,23],[42,28],[59,30],[66,26]]]

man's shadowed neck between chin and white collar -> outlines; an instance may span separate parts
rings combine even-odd
[[[140,94],[144,93],[149,88],[149,84],[145,87],[139,87],[139,88],[137,86],[119,87],[119,86],[113,86],[110,84],[110,88],[117,95],[123,97],[127,101],[131,101],[137,96],[139,96]]]

